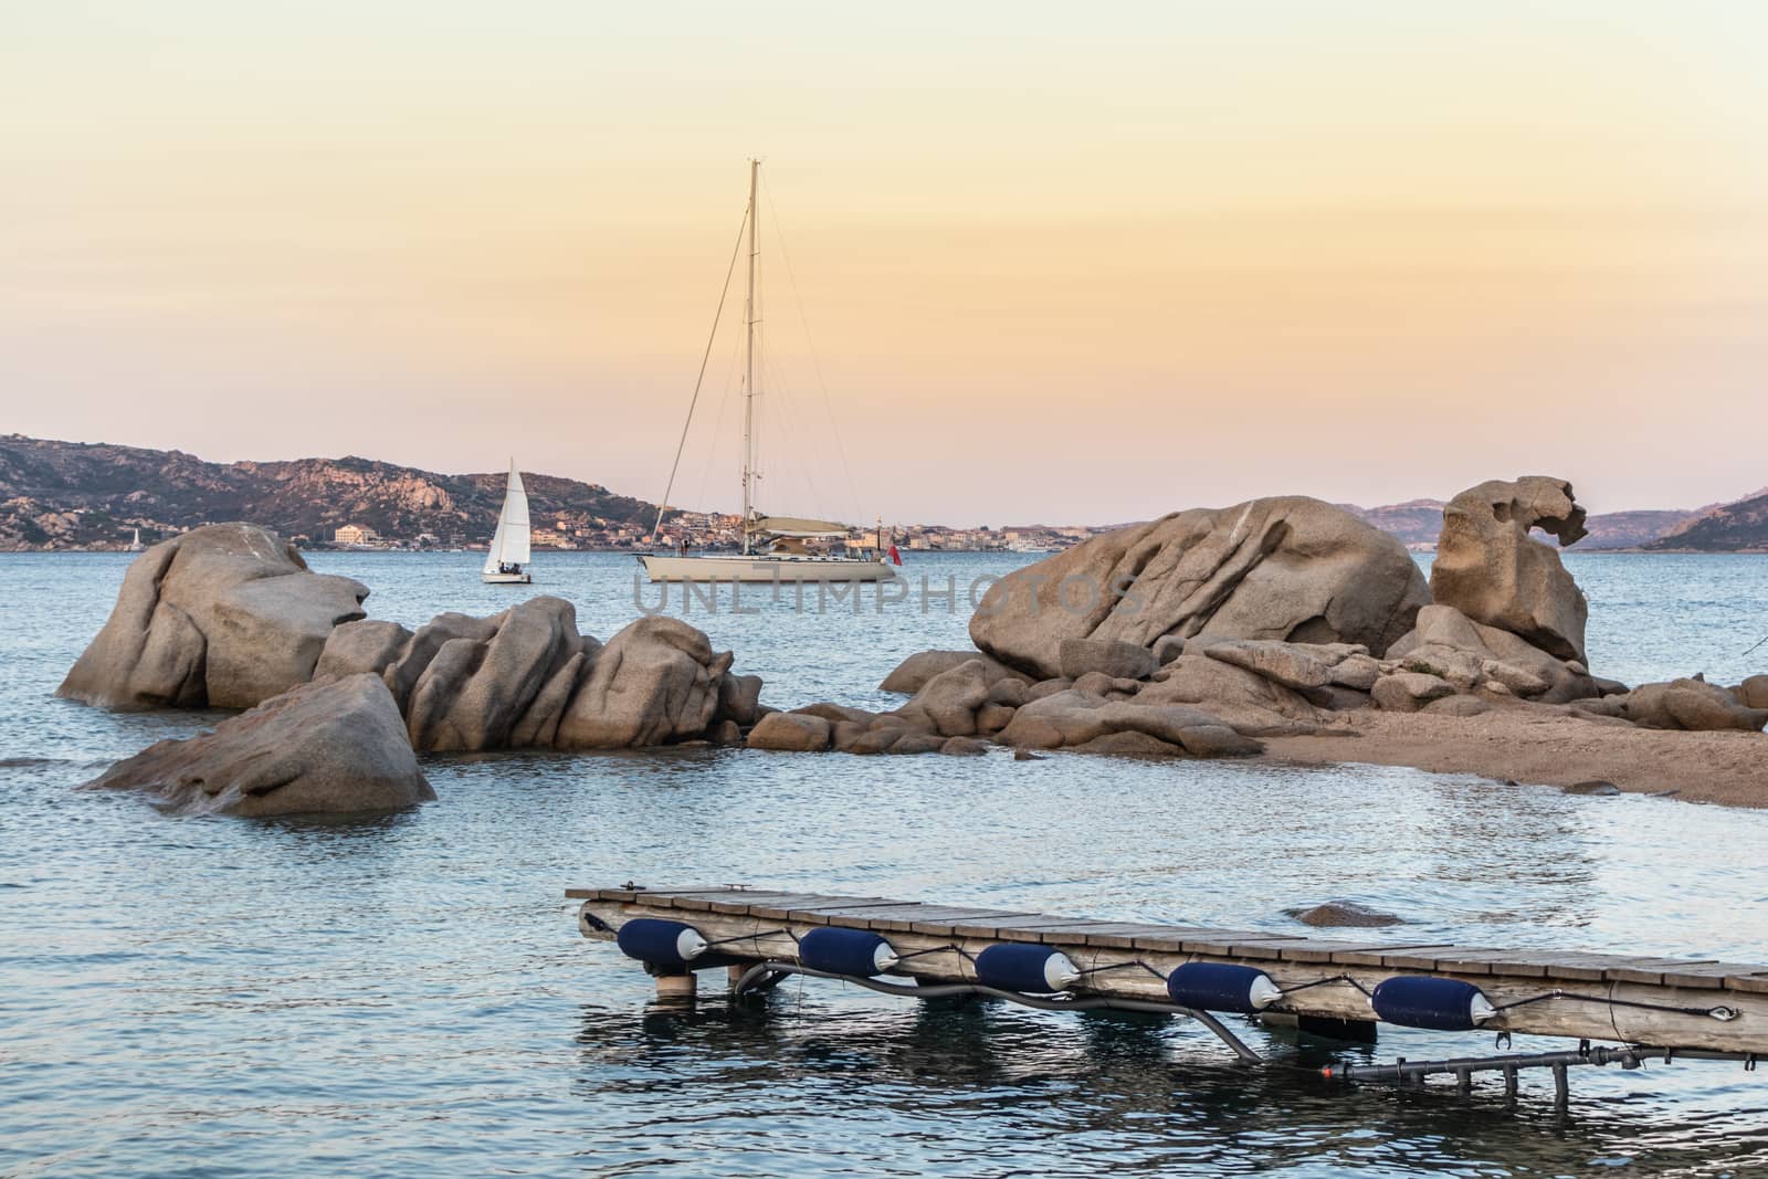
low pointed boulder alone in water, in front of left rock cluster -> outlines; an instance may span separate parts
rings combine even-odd
[[[88,785],[150,790],[186,815],[387,811],[435,797],[375,675],[302,684],[210,734],[152,744]]]

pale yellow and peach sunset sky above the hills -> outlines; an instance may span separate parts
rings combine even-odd
[[[0,0],[0,431],[758,502],[1768,484],[1768,5]],[[743,272],[670,502],[739,500]]]

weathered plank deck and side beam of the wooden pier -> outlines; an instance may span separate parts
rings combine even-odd
[[[1482,1034],[1568,1036],[1694,1055],[1768,1055],[1768,965],[1759,963],[1331,940],[730,886],[568,889],[566,896],[582,901],[578,928],[591,939],[615,940],[636,917],[691,926],[716,947],[702,967],[730,967],[734,985],[739,976],[760,976],[751,967],[762,963],[801,965],[799,940],[834,926],[886,939],[898,958],[888,979],[926,990],[978,983],[976,960],[988,947],[1045,946],[1071,960],[1080,976],[1047,1006],[1094,999],[1105,1006],[1176,1009],[1167,977],[1177,967],[1232,963],[1255,967],[1282,990],[1268,1015],[1367,1025],[1377,1018],[1370,997],[1381,983],[1427,976],[1473,985],[1490,1000],[1496,1011],[1480,1020]],[[691,995],[693,970],[702,967],[647,965],[658,976],[659,993],[677,995]]]

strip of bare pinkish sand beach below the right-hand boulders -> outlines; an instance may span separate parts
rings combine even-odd
[[[1768,808],[1761,734],[1635,728],[1524,709],[1494,709],[1480,716],[1361,711],[1342,714],[1338,721],[1328,732],[1264,737],[1266,751],[1255,760],[1409,765],[1512,785],[1609,781],[1627,794]]]

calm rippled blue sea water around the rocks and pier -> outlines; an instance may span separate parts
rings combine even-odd
[[[1017,559],[911,559],[911,601],[690,619],[764,700],[882,704],[964,642],[965,583]],[[651,1004],[582,940],[568,886],[744,880],[1287,930],[1349,896],[1406,935],[1768,960],[1768,811],[1574,799],[1407,769],[682,749],[426,765],[391,818],[166,818],[78,794],[203,723],[50,698],[120,555],[0,557],[0,1174],[9,1175],[1559,1175],[1768,1167],[1768,1071],[1584,1069],[1559,1119],[1496,1096],[1331,1089],[1229,1064],[1199,1029],[916,1006],[829,983],[766,1011]],[[407,624],[492,612],[458,555],[316,557]],[[1637,681],[1768,668],[1768,559],[1572,559],[1591,661]],[[916,578],[958,583],[919,608]],[[606,638],[631,560],[543,557]],[[647,603],[654,596],[647,594]],[[675,603],[679,608],[679,603]],[[728,608],[728,601],[721,603]],[[677,610],[672,610],[677,612]],[[1248,1029],[1278,1061],[1330,1057]],[[1381,1059],[1482,1038],[1383,1031]],[[1519,1039],[1519,1048],[1545,1041]],[[1368,1055],[1367,1050],[1344,1050]]]

